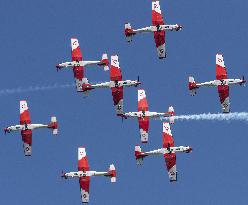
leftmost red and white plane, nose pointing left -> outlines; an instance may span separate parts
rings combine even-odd
[[[4,128],[4,132],[10,133],[14,131],[21,131],[23,149],[25,156],[31,156],[32,153],[32,130],[38,128],[52,129],[54,135],[58,134],[58,122],[55,116],[51,117],[51,122],[48,125],[45,124],[32,124],[30,120],[30,114],[28,110],[27,101],[20,101],[20,125],[14,125]]]

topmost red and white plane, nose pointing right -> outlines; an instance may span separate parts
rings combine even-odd
[[[152,26],[148,26],[140,29],[133,29],[130,23],[125,24],[125,36],[127,42],[132,41],[132,37],[138,33],[152,32],[154,35],[155,44],[157,47],[157,53],[159,59],[166,58],[165,50],[165,32],[166,31],[180,31],[182,26],[175,24],[165,24],[160,9],[159,1],[152,1]]]

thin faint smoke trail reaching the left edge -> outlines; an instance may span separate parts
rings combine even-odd
[[[36,92],[36,91],[44,91],[44,90],[53,90],[53,89],[59,89],[59,88],[70,88],[75,86],[74,83],[67,83],[67,84],[53,84],[53,85],[47,85],[47,86],[29,86],[27,88],[12,88],[12,89],[2,89],[0,90],[0,96],[3,95],[11,95],[16,93],[26,93],[26,92]]]

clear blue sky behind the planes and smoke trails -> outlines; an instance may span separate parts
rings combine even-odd
[[[187,90],[188,75],[198,81],[215,78],[215,55],[224,54],[229,77],[247,75],[247,7],[237,1],[161,1],[165,22],[184,26],[168,32],[167,59],[157,58],[153,36],[126,43],[123,30],[151,24],[151,1],[1,1],[0,54],[2,89],[72,83],[72,71],[55,65],[71,59],[70,38],[77,37],[85,60],[103,52],[118,54],[123,78],[140,76],[151,111],[177,114],[217,113],[217,90]],[[99,67],[86,70],[92,82],[109,80]],[[125,89],[124,109],[137,109],[136,88]],[[191,154],[177,155],[178,182],[171,184],[162,157],[137,167],[134,146],[140,143],[138,123],[115,116],[110,90],[89,98],[74,88],[0,96],[1,126],[19,123],[19,100],[26,99],[33,123],[56,115],[60,130],[33,134],[33,153],[25,158],[19,133],[1,137],[0,204],[81,204],[77,180],[60,179],[61,170],[77,169],[77,147],[86,146],[92,170],[114,163],[118,182],[92,178],[90,204],[244,204],[248,139],[243,122],[178,122],[172,127],[176,145],[191,145]],[[231,111],[247,111],[247,88],[230,89]],[[144,150],[162,146],[162,122],[152,121]]]

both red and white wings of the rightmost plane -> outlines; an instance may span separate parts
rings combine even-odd
[[[227,71],[224,63],[224,57],[222,54],[216,54],[216,80],[227,79]],[[218,93],[220,97],[220,103],[222,111],[224,113],[230,112],[230,102],[229,102],[229,86],[219,85]]]

